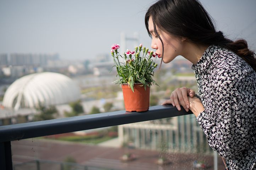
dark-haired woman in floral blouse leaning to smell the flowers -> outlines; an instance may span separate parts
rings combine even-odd
[[[216,32],[197,0],[160,0],[145,25],[162,62],[178,55],[192,62],[199,87],[199,95],[178,88],[163,104],[190,109],[228,169],[256,169],[256,59],[247,42]]]

